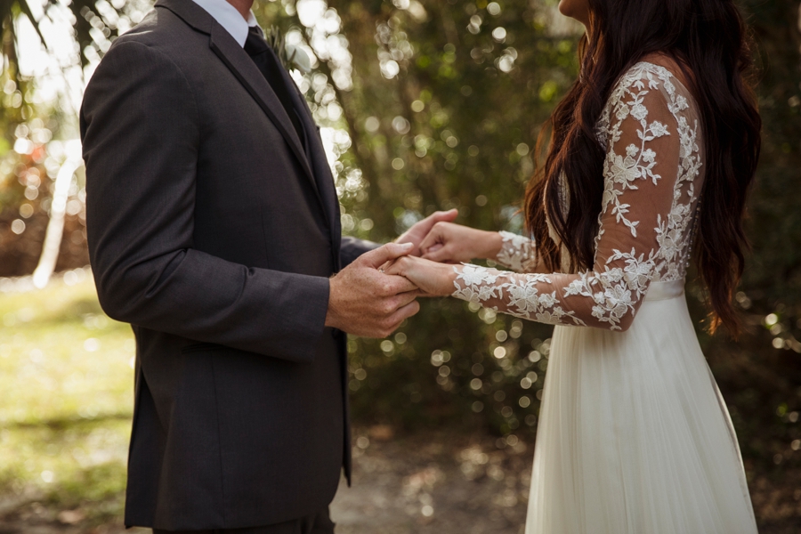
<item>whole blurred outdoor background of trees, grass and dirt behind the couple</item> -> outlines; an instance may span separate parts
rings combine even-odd
[[[290,75],[320,126],[344,235],[390,241],[449,208],[457,223],[525,231],[538,135],[578,77],[583,26],[557,4],[254,4],[263,28],[309,57],[311,71]],[[784,534],[801,530],[801,12],[797,1],[740,4],[765,62],[754,250],[734,298],[749,329],[736,342],[708,336],[703,289],[688,284],[687,300],[760,531]],[[123,532],[135,344],[102,312],[87,266],[77,109],[103,55],[152,2],[32,0],[46,48],[13,5],[0,75],[0,531]],[[335,501],[337,532],[518,532],[551,332],[426,299],[386,339],[350,336],[355,478]]]

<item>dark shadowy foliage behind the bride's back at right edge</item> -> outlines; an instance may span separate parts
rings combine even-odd
[[[763,118],[737,295],[751,328],[737,343],[702,341],[747,463],[780,477],[801,466],[801,20],[797,1],[740,4],[756,40]]]

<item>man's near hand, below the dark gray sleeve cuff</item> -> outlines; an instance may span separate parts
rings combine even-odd
[[[388,243],[360,255],[330,281],[326,326],[362,337],[386,337],[420,310],[417,286],[378,267],[408,255],[413,246]]]

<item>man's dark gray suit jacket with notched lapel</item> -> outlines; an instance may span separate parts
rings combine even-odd
[[[292,98],[305,142],[190,0],[159,0],[86,89],[94,277],[136,336],[126,525],[283,522],[327,506],[343,465],[350,476],[328,277],[373,245],[341,238],[318,130]]]

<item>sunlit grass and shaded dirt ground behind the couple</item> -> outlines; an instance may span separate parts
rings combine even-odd
[[[122,525],[130,328],[103,315],[86,271],[42,291],[10,284],[0,279],[0,534],[150,533]],[[531,443],[384,426],[354,438],[337,534],[522,532]],[[801,470],[765,473],[748,473],[760,532],[801,532]]]

